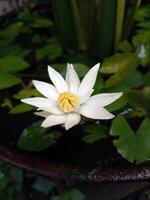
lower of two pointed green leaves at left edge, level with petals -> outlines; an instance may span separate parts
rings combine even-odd
[[[0,74],[0,90],[15,86],[21,83],[21,79],[12,74]]]

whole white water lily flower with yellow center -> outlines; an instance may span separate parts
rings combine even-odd
[[[91,96],[100,64],[91,68],[80,83],[72,64],[68,64],[66,79],[52,67],[48,67],[49,77],[54,85],[42,81],[33,81],[36,89],[45,97],[33,97],[21,101],[36,106],[36,115],[45,117],[42,127],[63,124],[65,129],[77,125],[81,115],[106,120],[114,117],[104,107],[117,100],[120,93],[102,93]]]

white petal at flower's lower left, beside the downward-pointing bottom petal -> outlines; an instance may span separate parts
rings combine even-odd
[[[50,127],[65,123],[66,115],[50,115],[42,123],[42,127]]]

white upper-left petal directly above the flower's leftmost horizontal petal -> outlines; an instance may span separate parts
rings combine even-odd
[[[36,81],[36,80],[33,81],[33,85],[45,97],[52,99],[52,100],[58,99],[59,94],[53,85],[42,82],[42,81]]]

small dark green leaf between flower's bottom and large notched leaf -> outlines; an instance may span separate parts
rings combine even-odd
[[[106,138],[108,136],[104,127],[96,125],[96,124],[95,125],[93,125],[93,124],[86,125],[84,127],[84,131],[88,134],[86,134],[82,138],[82,140],[87,143],[93,143],[93,142],[96,142],[103,138]]]

